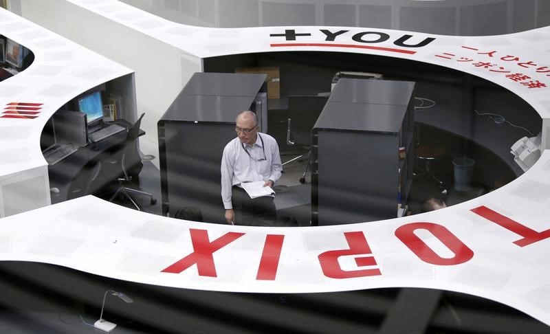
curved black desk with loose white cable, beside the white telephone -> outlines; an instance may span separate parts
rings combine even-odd
[[[476,115],[474,110],[479,113],[503,115],[510,122],[526,127],[533,133],[538,133],[541,129],[540,116],[517,96],[490,87],[487,83],[484,85],[478,82],[477,86],[474,85],[475,89],[464,91],[467,84],[441,85],[434,82],[419,82],[417,96],[430,98],[436,104],[426,109],[417,109],[415,120],[487,148],[502,159],[518,177],[523,174],[523,170],[514,162],[510,147],[521,137],[531,135],[523,129],[505,123],[497,124],[492,118]],[[467,98],[456,98],[465,94],[471,94],[472,101],[467,102]],[[419,102],[415,105],[419,105]],[[518,111],[521,111],[520,116]]]

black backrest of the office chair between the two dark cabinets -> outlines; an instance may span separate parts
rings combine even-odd
[[[327,96],[289,96],[290,135],[295,144],[311,145],[311,129],[329,98]]]

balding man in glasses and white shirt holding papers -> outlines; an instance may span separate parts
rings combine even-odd
[[[237,137],[225,145],[221,158],[221,199],[228,224],[274,226],[274,196],[251,199],[241,183],[265,181],[272,187],[281,177],[281,157],[274,137],[259,132],[258,118],[243,111],[236,118]]]

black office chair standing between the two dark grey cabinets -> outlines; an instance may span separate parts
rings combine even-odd
[[[283,166],[307,155],[307,164],[300,183],[305,183],[307,170],[311,166],[311,130],[327,104],[328,96],[289,96],[287,120],[287,144],[307,148],[307,153],[285,162]]]

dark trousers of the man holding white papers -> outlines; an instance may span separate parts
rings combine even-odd
[[[243,188],[233,186],[231,201],[236,225],[275,226],[277,211],[273,197],[262,196],[251,199]]]

